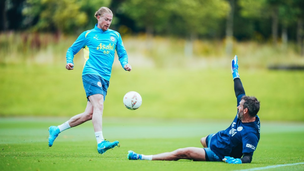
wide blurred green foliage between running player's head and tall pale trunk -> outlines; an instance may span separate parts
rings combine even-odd
[[[224,0],[131,0],[123,2],[121,10],[146,31],[155,29],[172,34],[179,30],[179,34],[190,35],[192,32],[207,34],[210,29],[216,29],[218,21],[226,17],[229,5]]]

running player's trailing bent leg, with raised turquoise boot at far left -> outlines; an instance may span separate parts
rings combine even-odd
[[[90,101],[87,103],[87,107],[83,113],[75,115],[69,119],[69,121],[64,122],[59,126],[50,126],[49,127],[49,147],[54,143],[54,140],[57,138],[58,134],[66,129],[69,129],[74,126],[78,126],[86,121],[92,119],[93,115],[93,105]]]

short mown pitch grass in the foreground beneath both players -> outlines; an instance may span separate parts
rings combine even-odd
[[[240,170],[303,162],[304,124],[262,122],[261,139],[251,164],[224,162],[130,161],[127,151],[157,154],[188,146],[201,147],[200,138],[226,129],[229,120],[104,118],[103,132],[120,147],[98,154],[91,122],[59,134],[47,146],[47,128],[67,118],[1,118],[1,170]],[[303,165],[276,170],[303,170]],[[269,169],[273,170],[273,169]]]

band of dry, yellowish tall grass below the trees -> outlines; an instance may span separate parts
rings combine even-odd
[[[1,33],[0,63],[62,64],[65,62],[66,50],[76,38],[26,32]],[[225,40],[196,40],[187,44],[184,39],[139,35],[123,36],[123,41],[129,63],[142,67],[223,67],[234,55],[238,55],[242,65],[249,69],[281,64],[304,65],[304,57],[297,54],[292,42],[286,47],[281,44],[273,47],[268,43],[234,41],[233,54],[226,54]],[[81,50],[75,56],[75,63],[83,63],[82,54]],[[119,65],[117,60],[116,65]]]

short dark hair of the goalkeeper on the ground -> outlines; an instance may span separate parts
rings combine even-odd
[[[249,116],[254,117],[258,114],[260,110],[260,102],[256,97],[253,96],[243,96],[241,100],[244,99],[244,109],[248,109]]]

